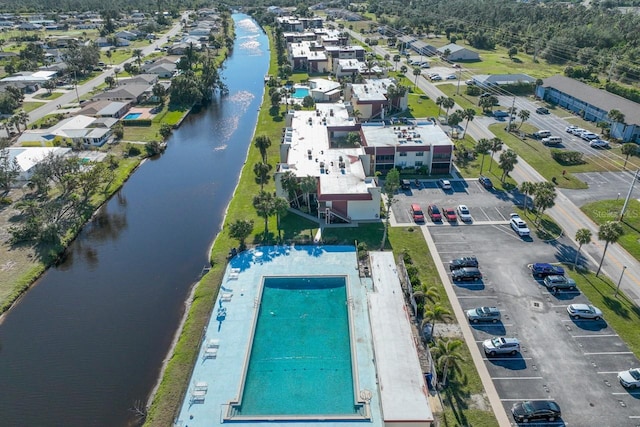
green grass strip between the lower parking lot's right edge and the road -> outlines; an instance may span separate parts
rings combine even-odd
[[[623,292],[615,297],[616,283],[604,275],[596,277],[593,272],[578,271],[572,272],[571,277],[580,292],[602,310],[607,324],[620,335],[635,356],[640,357],[640,308]]]

